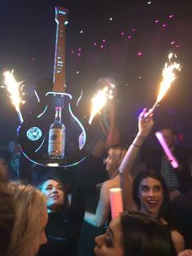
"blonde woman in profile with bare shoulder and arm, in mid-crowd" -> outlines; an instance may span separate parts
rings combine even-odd
[[[112,146],[106,158],[106,170],[109,175],[109,180],[105,181],[100,190],[98,206],[95,214],[88,211],[85,212],[84,220],[86,223],[94,227],[102,227],[109,220],[110,214],[110,188],[120,188],[120,163],[124,158],[127,148],[120,145]]]

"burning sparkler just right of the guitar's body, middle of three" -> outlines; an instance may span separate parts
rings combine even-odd
[[[89,117],[89,125],[92,123],[95,115],[107,104],[107,101],[114,98],[114,91],[116,90],[115,83],[111,82],[110,78],[103,79],[102,83],[103,89],[98,90],[94,98],[91,99],[92,109]]]

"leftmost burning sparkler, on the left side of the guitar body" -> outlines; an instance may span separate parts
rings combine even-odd
[[[11,100],[12,100],[12,104],[14,104],[15,110],[20,119],[20,123],[22,123],[24,121],[24,119],[20,113],[20,104],[21,103],[24,104],[24,100],[21,99],[21,91],[23,88],[23,86],[21,86],[21,84],[23,82],[16,82],[15,77],[13,76],[13,71],[5,72],[4,77],[5,77],[4,83],[6,86],[2,86],[2,87],[7,88],[7,91],[9,92]]]

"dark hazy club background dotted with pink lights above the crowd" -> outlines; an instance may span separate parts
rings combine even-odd
[[[75,98],[84,90],[82,111],[89,114],[94,83],[100,77],[116,78],[119,82],[118,122],[128,143],[137,130],[138,113],[155,103],[168,52],[177,53],[181,73],[156,109],[155,130],[164,125],[174,126],[180,134],[180,143],[190,147],[192,2],[1,0],[1,84],[4,68],[13,68],[16,79],[25,81],[27,103],[21,107],[24,115],[36,104],[31,97],[34,86],[42,78],[51,79],[53,74],[56,5],[69,10],[67,91]],[[139,52],[142,55],[138,55]],[[50,86],[43,85],[43,90],[46,93]],[[7,92],[2,89],[0,124],[1,148],[15,137],[19,125]]]

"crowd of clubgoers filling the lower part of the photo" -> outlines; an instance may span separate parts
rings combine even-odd
[[[120,144],[113,104],[108,111],[107,130],[98,122],[94,147],[67,182],[59,175],[62,167],[47,167],[35,182],[22,182],[20,157],[24,156],[19,143],[11,141],[7,155],[0,156],[0,255],[76,256],[83,223],[103,227],[94,239],[96,256],[192,255],[190,155],[177,150],[176,135],[168,127],[162,134],[179,167],[172,168],[163,150],[156,155],[155,150],[143,153],[154,126],[154,114],[146,108],[138,118],[133,142],[129,147]],[[145,165],[136,174],[139,154]],[[102,185],[97,187],[98,183]],[[100,190],[95,212],[86,209],[92,188]],[[114,219],[110,188],[122,188],[124,210]]]

